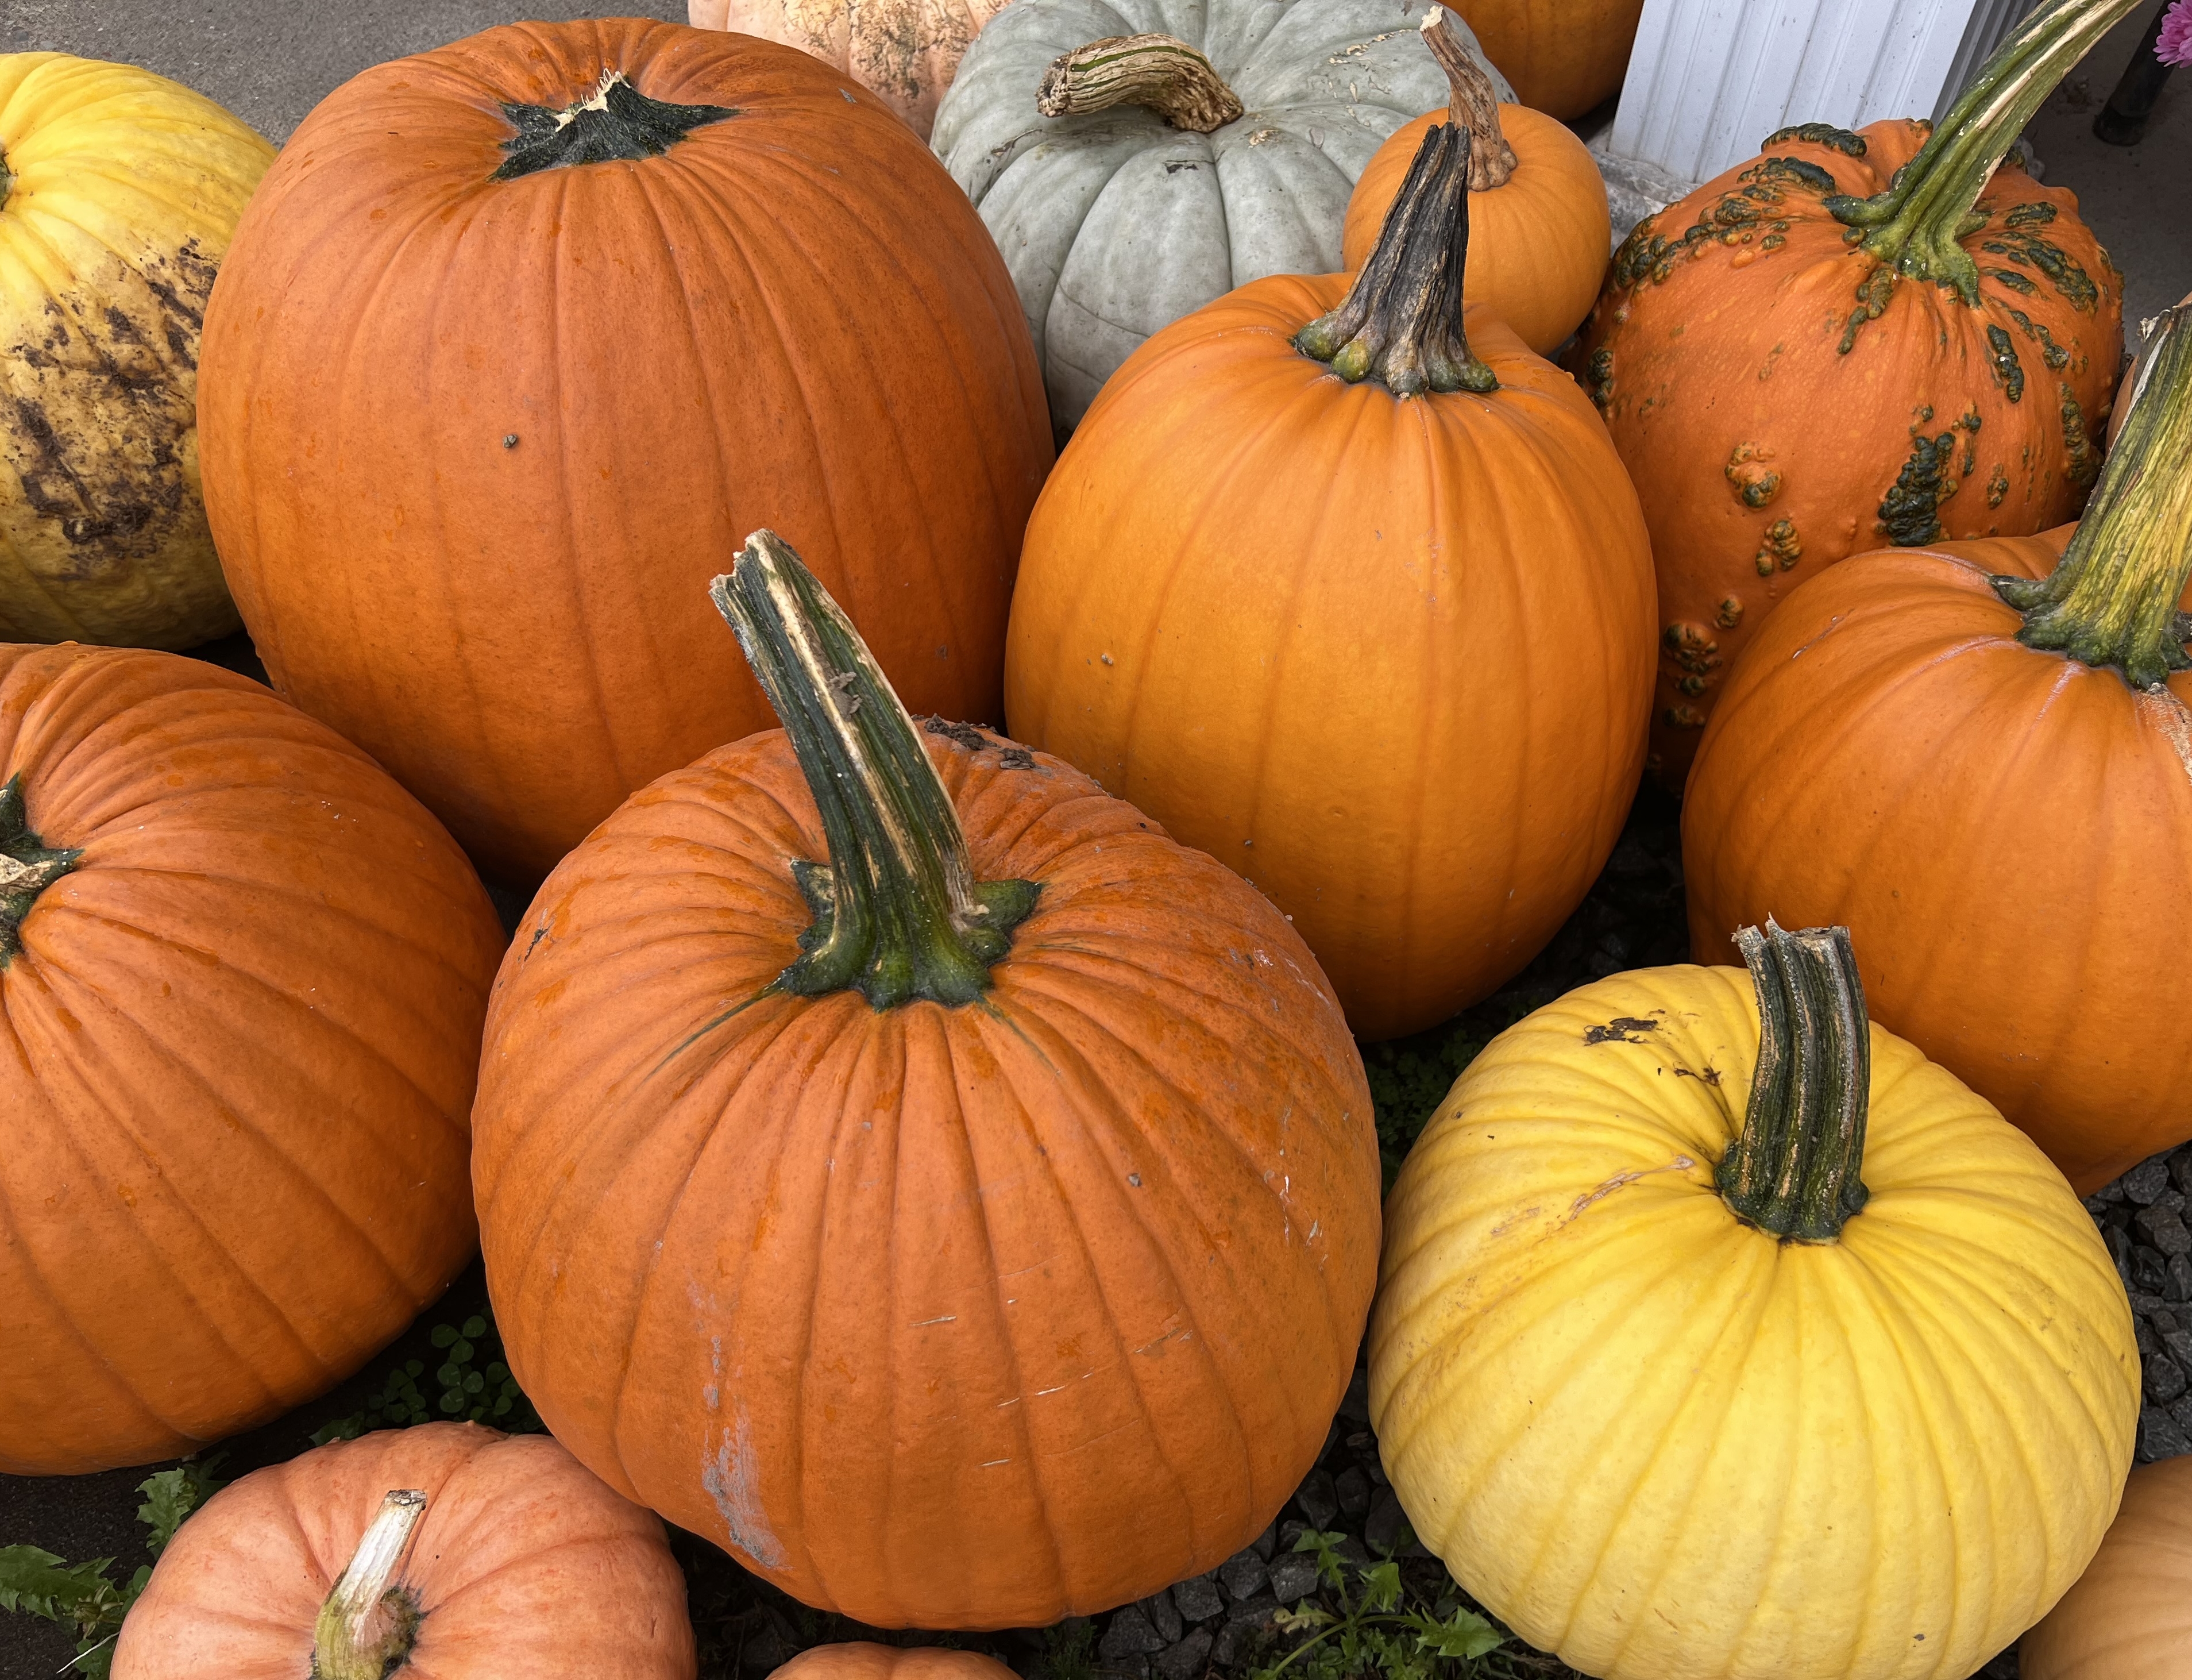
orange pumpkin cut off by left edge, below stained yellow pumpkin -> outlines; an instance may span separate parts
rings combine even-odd
[[[0,645],[0,1472],[265,1421],[447,1287],[502,945],[441,825],[256,682]]]

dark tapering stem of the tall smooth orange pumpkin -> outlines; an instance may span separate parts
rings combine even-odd
[[[1363,272],[1337,309],[1293,336],[1302,355],[1331,362],[1348,384],[1383,379],[1394,397],[1499,388],[1462,331],[1469,147],[1460,123],[1423,136]]]

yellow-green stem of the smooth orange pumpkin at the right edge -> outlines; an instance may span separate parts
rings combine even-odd
[[[2122,401],[2122,399],[2120,399]],[[2192,305],[2153,322],[2124,432],[2060,564],[2043,579],[1997,577],[2025,614],[2017,640],[2113,667],[2133,689],[2192,671]]]

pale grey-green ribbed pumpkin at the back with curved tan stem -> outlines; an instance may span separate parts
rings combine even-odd
[[[1265,274],[1339,270],[1339,228],[1370,154],[1447,103],[1447,72],[1416,31],[1423,9],[1425,0],[1013,0],[984,26],[936,110],[932,145],[1013,270],[1061,432],[1160,327]],[[1449,22],[1484,64],[1466,24]],[[1037,110],[1039,97],[1070,103],[1046,94],[1046,72],[1063,55],[1151,35],[1208,59],[1241,114],[1197,134],[1133,103],[1068,116]],[[1160,44],[1166,53],[1199,75],[1186,64],[1192,55]],[[1499,99],[1515,99],[1486,70]],[[1230,114],[1232,101],[1212,97],[1181,103]]]

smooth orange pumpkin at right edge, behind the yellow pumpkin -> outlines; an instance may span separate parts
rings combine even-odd
[[[2131,401],[2067,553],[1883,550],[1797,590],[1681,825],[1701,950],[1754,912],[1848,923],[1881,1022],[2080,1191],[2192,1138],[2192,305]]]

